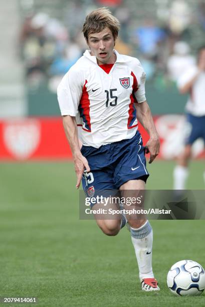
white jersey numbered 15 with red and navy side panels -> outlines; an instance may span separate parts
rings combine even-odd
[[[86,50],[58,86],[61,114],[76,117],[84,145],[99,148],[137,130],[134,102],[146,100],[145,72],[136,58],[114,52],[114,64],[99,66]]]

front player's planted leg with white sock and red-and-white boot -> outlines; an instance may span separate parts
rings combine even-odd
[[[130,180],[120,187],[121,195],[124,195],[124,197],[131,193],[129,191],[136,191],[137,197],[138,192],[144,189],[145,183],[142,180]],[[146,285],[143,283],[145,285],[143,289],[147,291],[159,290],[152,271],[152,227],[149,221],[144,218],[140,220],[130,219],[130,216],[127,215],[127,220],[130,225],[131,240],[139,267],[139,278],[141,281],[150,278],[149,281],[154,282],[153,286],[152,283]]]

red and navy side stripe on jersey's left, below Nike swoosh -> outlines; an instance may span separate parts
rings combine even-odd
[[[80,99],[79,111],[80,116],[83,118],[83,122],[85,123],[85,127],[83,130],[91,132],[91,124],[90,124],[90,99],[87,92],[86,83],[88,81],[85,80],[85,84],[83,86],[83,92]]]

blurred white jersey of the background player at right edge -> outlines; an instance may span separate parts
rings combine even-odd
[[[183,87],[196,74],[198,68],[191,66],[179,77],[177,85]],[[186,103],[186,111],[194,116],[205,115],[205,72],[201,72],[195,80]]]

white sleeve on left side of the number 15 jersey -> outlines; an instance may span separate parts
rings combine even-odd
[[[65,74],[57,89],[61,115],[76,116],[82,95],[80,73],[71,69]]]

